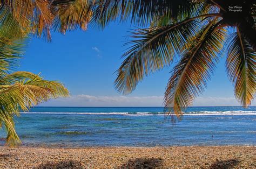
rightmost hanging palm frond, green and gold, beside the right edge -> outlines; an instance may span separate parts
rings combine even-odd
[[[233,33],[229,39],[227,73],[234,84],[234,93],[243,107],[251,104],[255,94],[256,52],[241,30]]]

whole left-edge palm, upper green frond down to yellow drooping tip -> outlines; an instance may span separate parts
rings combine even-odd
[[[1,13],[2,14],[2,13]],[[28,30],[21,28],[10,15],[1,18],[0,26],[0,127],[7,133],[6,143],[20,143],[15,131],[14,116],[28,111],[33,105],[51,98],[69,95],[62,83],[44,80],[30,72],[13,72],[17,60],[23,54],[24,39]]]

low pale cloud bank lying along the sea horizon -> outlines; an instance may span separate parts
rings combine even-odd
[[[65,107],[161,107],[163,96],[92,96],[73,95],[42,103],[40,106]],[[197,97],[193,106],[239,105],[234,97]],[[256,105],[256,101],[252,102]]]

